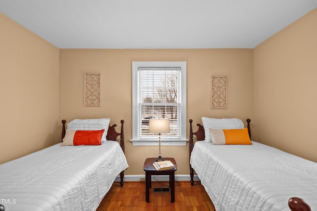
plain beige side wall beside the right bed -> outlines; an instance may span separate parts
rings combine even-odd
[[[317,161],[317,9],[254,49],[255,137]]]

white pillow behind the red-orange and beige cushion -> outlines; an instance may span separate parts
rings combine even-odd
[[[101,138],[101,142],[106,141],[110,119],[74,119],[67,124],[68,130],[102,130],[105,132]]]

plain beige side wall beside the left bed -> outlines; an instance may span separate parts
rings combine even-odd
[[[0,13],[0,163],[53,145],[59,49]]]

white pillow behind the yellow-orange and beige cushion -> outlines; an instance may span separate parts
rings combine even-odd
[[[206,142],[212,142],[210,128],[213,129],[243,129],[244,124],[240,119],[229,118],[229,119],[215,119],[202,117],[203,126],[205,130]]]

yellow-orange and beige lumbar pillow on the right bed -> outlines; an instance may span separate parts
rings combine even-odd
[[[213,129],[210,128],[213,145],[252,144],[248,128],[244,129]]]

